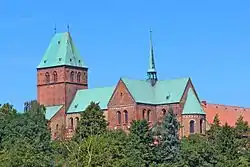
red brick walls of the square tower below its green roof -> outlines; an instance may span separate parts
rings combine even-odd
[[[57,72],[57,82],[53,81],[53,72]],[[70,81],[70,73],[74,72],[74,81]],[[50,83],[46,83],[45,73],[50,74]],[[77,83],[77,73],[81,73],[80,83]],[[64,104],[66,109],[78,89],[88,88],[87,69],[71,67],[55,67],[37,71],[37,100],[45,106]]]

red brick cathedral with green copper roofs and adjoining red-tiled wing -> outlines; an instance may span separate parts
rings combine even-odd
[[[71,138],[92,101],[99,103],[110,129],[127,131],[132,120],[141,119],[152,126],[170,107],[181,124],[180,137],[206,133],[216,114],[221,124],[234,126],[241,115],[250,123],[250,108],[201,101],[191,78],[158,78],[154,56],[150,37],[146,79],[120,78],[116,85],[89,89],[88,67],[70,33],[56,33],[37,66],[37,100],[46,107],[52,138]]]

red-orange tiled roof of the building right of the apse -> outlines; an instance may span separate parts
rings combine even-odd
[[[201,104],[206,113],[208,123],[212,123],[215,115],[218,114],[222,125],[227,122],[230,126],[234,126],[240,115],[242,115],[244,120],[250,124],[250,108],[210,104],[205,101]]]

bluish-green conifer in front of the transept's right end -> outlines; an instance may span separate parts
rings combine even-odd
[[[180,140],[179,140],[179,122],[172,110],[169,109],[163,122],[159,127],[159,144],[155,147],[156,163],[171,164],[179,160],[180,157]]]

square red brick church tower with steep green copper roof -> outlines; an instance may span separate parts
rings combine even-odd
[[[55,33],[37,67],[37,100],[68,109],[76,91],[88,88],[88,68],[69,32]]]

